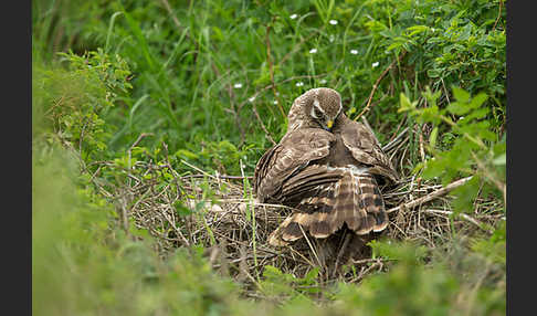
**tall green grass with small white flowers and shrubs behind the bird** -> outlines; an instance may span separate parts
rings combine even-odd
[[[419,97],[425,85],[486,92],[496,126],[505,119],[505,9],[498,1],[102,2],[33,1],[34,42],[49,59],[54,50],[104,46],[131,65],[133,94],[107,116],[118,127],[114,149],[140,133],[155,133],[145,143],[166,140],[173,151],[229,140],[238,150],[253,145],[245,152],[252,170],[271,145],[254,106],[276,139],[286,124],[280,106],[286,113],[314,86],[338,89],[356,115],[403,50],[409,53],[381,81],[368,113],[381,141],[401,119],[400,92]],[[263,89],[272,82],[274,89]]]

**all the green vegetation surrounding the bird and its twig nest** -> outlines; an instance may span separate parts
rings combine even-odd
[[[442,249],[378,242],[376,255],[396,259],[390,271],[319,287],[323,303],[296,286],[315,287],[315,275],[267,268],[255,291],[272,298],[253,301],[201,247],[161,259],[147,232],[126,235],[94,186],[119,186],[120,167],[137,159],[165,159],[162,144],[178,170],[186,160],[240,175],[242,164],[252,175],[296,96],[336,88],[356,117],[381,77],[365,114],[379,140],[409,127],[427,141],[423,157],[418,137],[409,141],[406,176],[473,176],[453,192],[454,214],[477,198],[505,213],[505,4],[33,0],[33,312],[505,314],[505,223],[455,232]],[[105,160],[118,168],[97,172]]]

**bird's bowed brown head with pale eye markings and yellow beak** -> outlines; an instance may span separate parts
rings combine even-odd
[[[309,89],[306,94],[308,98],[306,115],[322,128],[330,131],[343,110],[339,93],[328,87],[318,87]]]

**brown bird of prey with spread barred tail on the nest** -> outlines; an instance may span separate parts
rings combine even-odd
[[[288,129],[259,160],[257,200],[296,209],[270,236],[285,245],[305,232],[325,239],[345,224],[358,235],[387,228],[379,183],[399,176],[371,130],[343,112],[338,92],[313,88],[297,97]]]

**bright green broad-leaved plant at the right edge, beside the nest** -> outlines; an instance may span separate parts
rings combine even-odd
[[[420,124],[429,123],[434,126],[427,146],[433,157],[419,164],[414,170],[423,169],[422,176],[425,179],[441,178],[444,186],[455,177],[473,177],[454,191],[459,197],[454,202],[457,211],[471,207],[482,182],[486,185],[482,188],[485,192],[493,193],[494,189],[499,192],[505,204],[505,134],[499,138],[491,131],[491,108],[484,106],[487,96],[481,93],[471,97],[464,89],[453,87],[454,102],[449,103],[445,108],[436,104],[439,91],[432,93],[428,88],[423,96],[427,106],[418,107],[418,102],[410,102],[401,93],[399,109],[415,117]],[[448,135],[443,145],[436,144],[438,137],[442,137],[440,130]]]

